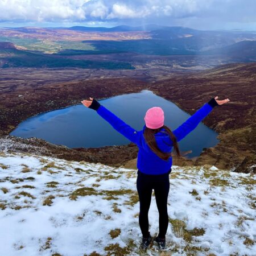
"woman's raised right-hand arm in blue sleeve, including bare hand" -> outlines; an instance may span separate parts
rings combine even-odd
[[[215,98],[212,98],[209,102],[205,103],[197,112],[191,117],[187,119],[182,125],[177,127],[173,131],[174,135],[177,138],[177,141],[180,141],[185,136],[187,136],[192,130],[196,128],[197,125],[205,118],[207,115],[212,111],[214,106],[222,105],[229,101],[229,99],[218,101],[217,96]]]

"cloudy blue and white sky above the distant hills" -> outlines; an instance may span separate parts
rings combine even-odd
[[[256,0],[0,0],[0,27],[138,26],[256,31]]]

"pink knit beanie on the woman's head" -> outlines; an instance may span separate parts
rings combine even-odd
[[[150,129],[157,129],[164,124],[164,112],[160,107],[153,107],[147,110],[144,117],[146,126]]]

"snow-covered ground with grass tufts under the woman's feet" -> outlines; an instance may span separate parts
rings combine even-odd
[[[159,255],[139,250],[137,170],[0,153],[0,255]],[[255,176],[172,167],[160,255],[256,255]],[[150,232],[158,233],[154,193]]]

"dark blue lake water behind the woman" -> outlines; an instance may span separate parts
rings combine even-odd
[[[93,97],[93,96],[92,96]],[[100,100],[115,115],[137,130],[142,130],[147,109],[160,106],[164,110],[164,124],[176,129],[190,117],[175,104],[156,96],[149,90],[123,94]],[[125,145],[130,141],[114,130],[95,110],[84,105],[45,112],[26,121],[10,133],[22,138],[37,137],[54,144],[68,147],[103,147]],[[187,156],[199,156],[204,147],[218,143],[217,133],[200,123],[190,134],[179,142],[181,151],[192,150]]]

